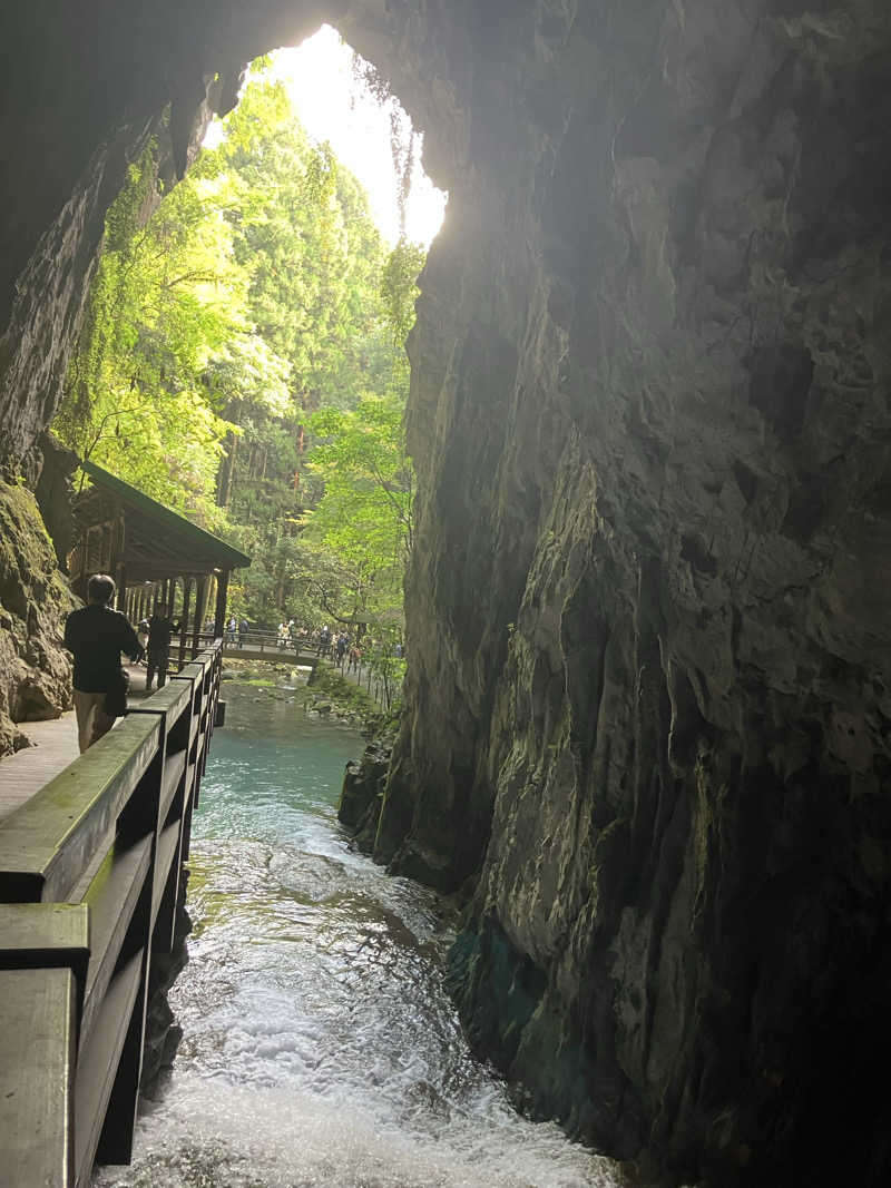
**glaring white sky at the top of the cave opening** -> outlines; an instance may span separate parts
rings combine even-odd
[[[293,49],[272,55],[273,78],[286,86],[297,115],[317,141],[330,141],[335,156],[368,191],[372,216],[391,244],[399,238],[398,176],[391,145],[391,112],[396,110],[399,139],[407,146],[415,135],[411,120],[396,101],[381,106],[353,70],[353,51],[336,30],[323,25]],[[211,125],[204,144],[221,139]],[[421,165],[421,135],[416,135],[415,169],[405,208],[405,230],[416,244],[430,245],[442,226],[447,195],[437,190]]]

